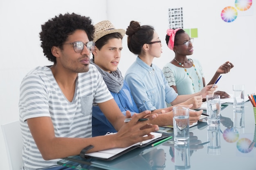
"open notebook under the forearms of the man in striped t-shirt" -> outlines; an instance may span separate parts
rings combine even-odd
[[[93,158],[97,158],[97,159],[111,161],[111,160],[125,154],[126,152],[129,152],[130,150],[148,146],[149,144],[153,144],[159,140],[162,140],[162,139],[165,139],[166,137],[168,137],[168,135],[163,135],[162,133],[157,133],[157,132],[151,132],[151,134],[154,135],[155,137],[153,139],[148,139],[146,141],[142,141],[142,143],[139,142],[137,144],[133,144],[126,148],[112,148],[112,149],[100,150],[100,151],[92,152],[92,153],[84,153],[83,158],[88,159],[90,157],[93,157]]]

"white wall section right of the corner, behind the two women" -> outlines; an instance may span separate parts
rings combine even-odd
[[[118,4],[118,0],[111,0]],[[109,19],[118,28],[126,29],[131,20],[150,24],[155,27],[163,44],[163,53],[153,62],[162,68],[170,62],[174,53],[165,43],[168,29],[168,8],[183,7],[184,28],[198,28],[198,38],[194,39],[194,53],[189,56],[200,60],[208,83],[217,68],[226,61],[234,64],[228,74],[222,75],[218,82],[218,90],[232,94],[232,84],[245,84],[245,95],[255,93],[256,79],[254,78],[254,41],[256,39],[255,12],[253,15],[238,15],[231,23],[224,22],[220,13],[227,6],[235,7],[234,0],[215,0],[202,3],[201,0],[168,0],[168,1],[140,1],[130,0],[123,7],[109,5]],[[135,5],[136,4],[136,5]],[[255,11],[255,5],[252,5]],[[117,17],[118,16],[118,17]],[[119,68],[123,75],[134,62],[134,56],[128,50],[126,37],[123,41],[122,61]],[[125,60],[125,62],[124,62]],[[246,97],[245,96],[245,97]]]

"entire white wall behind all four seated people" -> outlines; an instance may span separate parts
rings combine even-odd
[[[40,25],[59,13],[90,16],[94,23],[110,20],[116,28],[126,29],[131,20],[155,27],[163,41],[162,57],[154,59],[160,68],[174,57],[165,45],[168,8],[183,7],[184,28],[198,28],[194,54],[201,61],[208,83],[216,69],[230,61],[235,67],[222,75],[218,90],[232,93],[232,84],[245,84],[245,95],[254,93],[256,80],[254,49],[256,15],[241,16],[231,23],[222,21],[220,12],[234,7],[234,0],[1,0],[0,1],[0,124],[18,120],[19,85],[25,74],[38,65],[49,65],[40,48]],[[252,11],[255,10],[252,6]],[[106,10],[107,9],[107,10]],[[255,13],[255,12],[254,12]],[[127,48],[126,36],[119,69],[125,74],[136,56]],[[0,131],[0,169],[7,169],[7,159]]]

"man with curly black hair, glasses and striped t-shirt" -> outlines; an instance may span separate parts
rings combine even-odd
[[[152,139],[158,130],[150,121],[157,117],[144,111],[124,123],[101,74],[90,64],[94,50],[94,26],[89,17],[60,14],[43,24],[41,47],[52,66],[31,70],[20,85],[20,125],[23,138],[22,170],[62,170],[60,158],[109,148],[124,148]],[[118,131],[92,137],[92,106],[98,105]],[[147,121],[138,122],[147,116]],[[144,135],[147,135],[144,137]],[[102,141],[104,141],[102,143]]]

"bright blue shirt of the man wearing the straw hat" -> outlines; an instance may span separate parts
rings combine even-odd
[[[122,113],[125,115],[126,110],[131,114],[139,113],[139,110],[132,98],[130,88],[124,80],[124,86],[118,93],[110,91]],[[92,136],[106,135],[107,132],[117,132],[105,115],[101,112],[99,106],[92,107]]]

